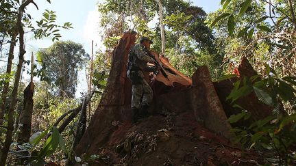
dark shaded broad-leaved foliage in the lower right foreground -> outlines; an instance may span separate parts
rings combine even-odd
[[[234,83],[234,89],[228,98],[232,102],[238,98],[255,92],[258,100],[264,104],[273,107],[275,115],[269,115],[262,120],[251,120],[251,113],[242,109],[241,113],[231,115],[228,122],[252,122],[250,126],[240,126],[232,129],[236,134],[234,143],[240,143],[242,148],[256,148],[258,150],[273,150],[277,158],[277,164],[287,165],[295,162],[291,146],[296,143],[296,109],[293,108],[292,114],[283,113],[280,110],[281,100],[288,101],[294,105],[296,100],[296,90],[294,88],[296,77],[277,78],[275,71],[267,64],[266,72],[268,77],[258,79],[259,77],[240,79]],[[259,111],[259,110],[258,110]],[[291,111],[290,111],[291,112]],[[270,157],[270,156],[268,156]],[[273,156],[274,157],[274,156]]]

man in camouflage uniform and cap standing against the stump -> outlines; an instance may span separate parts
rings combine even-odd
[[[149,57],[147,50],[153,43],[149,38],[140,38],[140,43],[135,44],[129,55],[127,77],[132,81],[132,122],[137,122],[139,117],[147,115],[147,109],[152,102],[153,92],[145,81],[143,72],[153,72],[155,67],[147,66],[147,62],[155,64],[156,61]],[[143,100],[141,103],[141,98]]]

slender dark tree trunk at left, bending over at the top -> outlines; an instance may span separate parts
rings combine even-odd
[[[12,89],[12,100],[10,102],[10,107],[8,109],[8,130],[5,136],[5,143],[2,148],[2,154],[0,159],[0,166],[4,166],[6,162],[6,158],[8,156],[8,151],[10,149],[10,144],[12,143],[12,133],[14,130],[14,108],[16,106],[16,97],[18,92],[18,83],[21,78],[21,70],[23,67],[23,57],[25,55],[25,47],[24,47],[24,30],[23,30],[23,23],[22,17],[23,12],[25,11],[25,7],[29,5],[29,3],[34,3],[33,0],[24,1],[21,6],[18,8],[18,15],[16,21],[16,27],[19,33],[19,55],[18,55],[18,66],[16,69],[16,74],[14,77],[14,87]]]

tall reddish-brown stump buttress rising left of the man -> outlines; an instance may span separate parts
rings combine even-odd
[[[106,142],[112,130],[115,130],[112,121],[130,120],[132,117],[130,112],[132,84],[126,77],[126,64],[127,55],[135,40],[136,33],[125,33],[114,50],[108,83],[86,133],[75,150],[76,154],[97,151],[97,147]]]

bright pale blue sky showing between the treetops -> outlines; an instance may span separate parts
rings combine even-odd
[[[219,8],[221,0],[193,0],[193,4],[203,8],[207,13],[213,12]],[[57,23],[62,25],[65,22],[73,24],[73,29],[61,30],[62,38],[60,40],[72,40],[83,44],[86,53],[91,53],[91,40],[95,41],[95,51],[103,49],[101,47],[100,29],[99,29],[99,17],[100,14],[97,11],[97,3],[102,3],[103,0],[51,0],[48,3],[46,0],[36,1],[39,10],[36,10],[35,6],[30,4],[27,8],[27,12],[32,15],[34,20],[42,18],[42,12],[47,10],[53,10],[57,15]],[[26,49],[28,54],[25,55],[25,59],[29,58],[29,53],[32,51],[36,53],[39,48],[47,48],[53,44],[51,38],[45,38],[42,40],[34,40],[32,34],[26,36]],[[86,79],[85,72],[79,72],[79,83],[77,85],[77,96],[80,92],[86,91]]]

